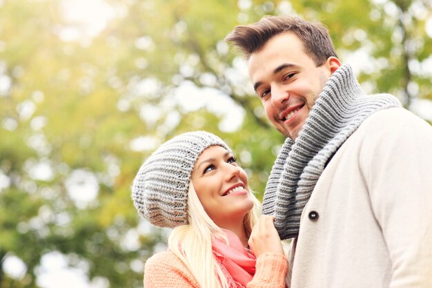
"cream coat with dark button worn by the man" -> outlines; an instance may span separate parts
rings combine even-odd
[[[432,126],[403,108],[366,119],[318,180],[290,264],[291,288],[431,288]]]

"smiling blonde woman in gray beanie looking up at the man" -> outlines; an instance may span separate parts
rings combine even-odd
[[[273,216],[258,218],[246,172],[219,137],[195,131],[162,144],[139,169],[132,200],[150,223],[173,228],[168,251],[146,262],[144,287],[285,287]]]

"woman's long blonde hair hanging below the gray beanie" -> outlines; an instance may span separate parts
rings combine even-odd
[[[244,217],[247,237],[250,236],[261,210],[261,204],[253,192],[250,193],[254,204]],[[207,215],[192,182],[189,184],[187,209],[189,224],[173,229],[168,238],[168,247],[193,273],[200,287],[228,288],[228,280],[213,256],[212,239],[219,238],[226,242],[228,240],[222,229]]]

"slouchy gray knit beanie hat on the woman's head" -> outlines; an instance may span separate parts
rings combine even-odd
[[[168,140],[142,164],[132,184],[132,200],[151,224],[174,228],[188,224],[188,189],[193,166],[209,146],[230,151],[224,141],[205,131],[183,133]]]

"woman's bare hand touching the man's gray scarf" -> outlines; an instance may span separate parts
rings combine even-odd
[[[284,254],[282,242],[273,224],[274,220],[273,215],[261,215],[252,229],[248,244],[257,258],[264,253]]]

